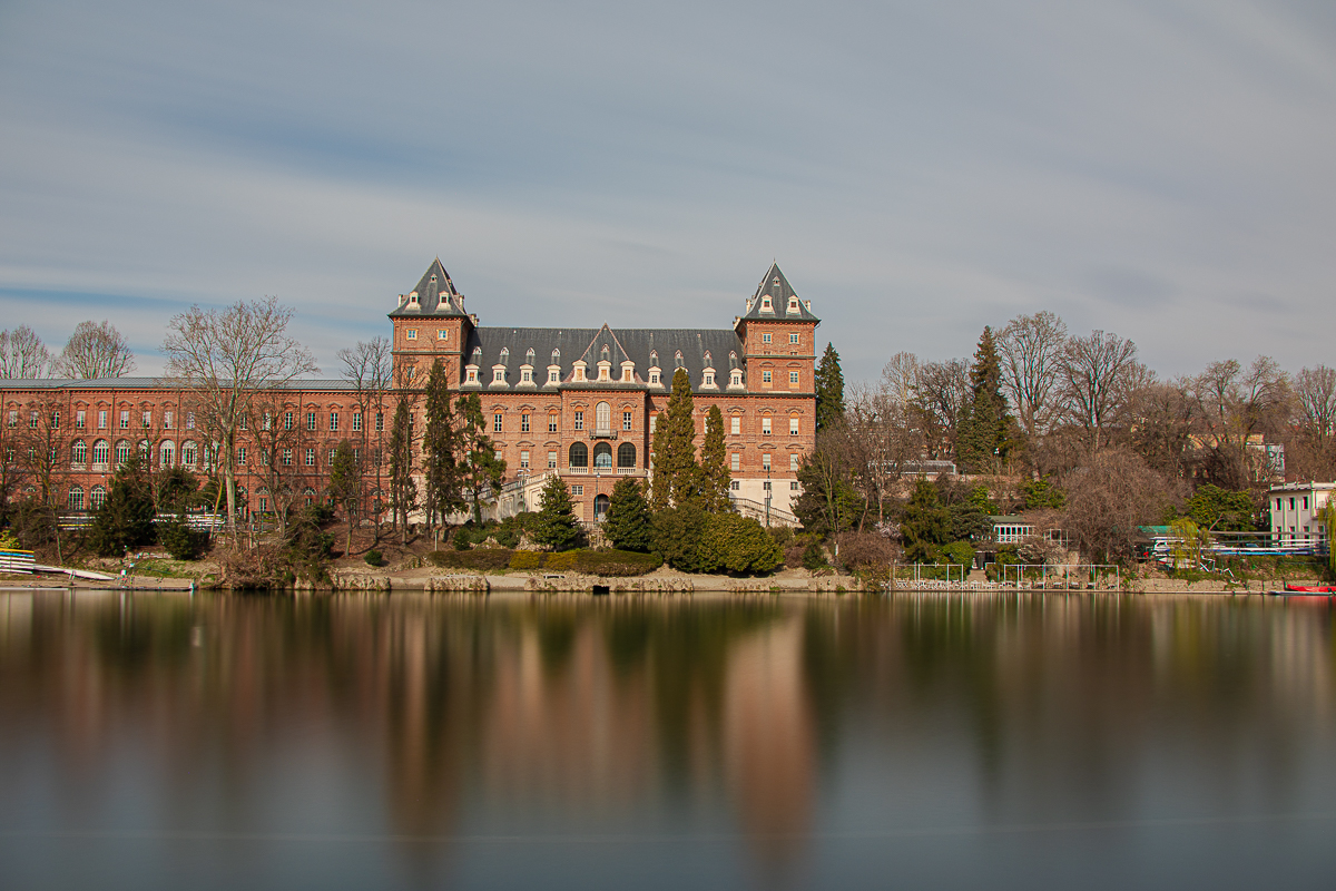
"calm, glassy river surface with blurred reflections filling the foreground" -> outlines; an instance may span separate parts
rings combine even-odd
[[[1331,888],[1325,601],[0,593],[4,888]]]

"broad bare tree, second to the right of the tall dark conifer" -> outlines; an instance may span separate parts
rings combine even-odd
[[[1098,452],[1134,386],[1149,377],[1137,362],[1137,345],[1092,331],[1067,342],[1059,369],[1067,414],[1085,429],[1092,452]]]

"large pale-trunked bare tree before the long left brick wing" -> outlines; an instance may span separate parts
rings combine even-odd
[[[291,307],[269,297],[226,310],[192,306],[167,326],[163,353],[175,386],[191,390],[216,430],[218,466],[227,493],[227,526],[236,541],[236,441],[255,397],[317,373],[311,354],[287,335]]]

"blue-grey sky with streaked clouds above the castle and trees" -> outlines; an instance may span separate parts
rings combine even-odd
[[[0,0],[0,329],[277,295],[325,377],[441,256],[482,325],[846,378],[1050,310],[1164,377],[1333,363],[1336,4]]]

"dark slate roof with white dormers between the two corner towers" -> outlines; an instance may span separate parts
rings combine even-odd
[[[616,331],[604,325],[599,329],[546,329],[546,327],[477,327],[469,335],[469,342],[464,350],[465,363],[474,363],[482,373],[482,389],[488,389],[492,379],[490,369],[494,365],[505,365],[510,369],[508,374],[510,387],[518,379],[517,370],[528,363],[529,350],[533,350],[534,369],[538,370],[536,379],[540,383],[546,381],[546,367],[560,365],[562,386],[572,385],[572,363],[584,359],[587,375],[596,377],[599,362],[603,359],[604,347],[608,350],[608,361],[612,362],[612,377],[621,377],[621,363],[631,359],[636,363],[636,385],[644,387],[651,366],[663,369],[664,389],[668,389],[673,370],[677,367],[677,353],[681,353],[681,365],[691,374],[693,389],[700,389],[700,373],[707,367],[705,354],[709,354],[709,367],[715,369],[719,389],[725,389],[728,371],[732,367],[741,369],[743,342],[728,329],[617,329]],[[502,355],[502,350],[506,353]],[[561,357],[553,362],[552,351],[560,350]],[[655,355],[656,354],[656,355]],[[652,361],[657,358],[657,361]],[[744,379],[745,383],[745,379]],[[582,385],[573,385],[582,386]],[[607,387],[603,382],[600,387]],[[713,390],[711,390],[713,391]]]

